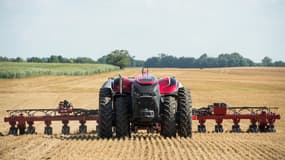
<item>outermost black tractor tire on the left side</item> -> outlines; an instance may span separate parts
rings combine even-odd
[[[109,88],[101,88],[99,93],[99,124],[100,138],[112,137],[113,101]]]

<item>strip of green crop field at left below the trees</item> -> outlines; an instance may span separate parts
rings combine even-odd
[[[70,64],[70,63],[16,63],[0,62],[0,78],[13,79],[41,75],[91,75],[119,70],[107,64]]]

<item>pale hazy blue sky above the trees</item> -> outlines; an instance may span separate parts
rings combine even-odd
[[[0,0],[0,56],[285,61],[285,0]]]

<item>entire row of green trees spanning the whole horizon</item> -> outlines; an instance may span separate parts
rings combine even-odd
[[[0,61],[8,62],[37,62],[37,63],[102,63],[125,67],[177,67],[177,68],[213,68],[213,67],[239,67],[239,66],[277,66],[284,67],[285,62],[273,62],[270,57],[264,57],[260,63],[255,63],[241,54],[223,53],[217,57],[209,57],[206,53],[198,58],[176,57],[165,53],[150,57],[146,61],[136,60],[128,50],[114,50],[111,53],[100,57],[97,61],[88,57],[66,58],[61,55],[51,55],[50,57],[29,57],[24,60],[21,57],[8,58],[0,56]]]

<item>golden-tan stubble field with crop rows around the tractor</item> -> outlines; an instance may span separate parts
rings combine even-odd
[[[191,88],[193,105],[206,106],[226,102],[231,106],[279,107],[281,120],[277,133],[212,133],[214,122],[207,122],[206,134],[194,133],[192,139],[164,139],[156,134],[138,133],[131,139],[98,140],[95,135],[62,137],[61,124],[54,123],[54,136],[43,135],[37,123],[37,135],[0,136],[0,159],[285,159],[285,68],[226,69],[150,69],[157,77],[173,75]],[[140,69],[119,71],[135,76]],[[93,76],[45,76],[0,80],[0,132],[8,132],[3,118],[7,109],[54,108],[58,101],[70,100],[80,108],[97,108],[98,90],[108,78],[119,72]],[[229,131],[231,122],[224,123]],[[242,121],[246,130],[249,122]],[[71,123],[72,133],[78,122]],[[89,122],[88,131],[96,124]],[[197,122],[193,124],[194,132]]]

